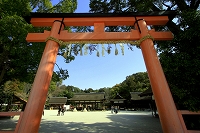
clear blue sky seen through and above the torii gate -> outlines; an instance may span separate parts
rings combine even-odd
[[[89,12],[89,0],[78,0],[76,13]],[[140,49],[134,47],[131,51],[125,46],[124,55],[118,46],[119,54],[115,55],[114,45],[111,54],[104,57],[91,55],[76,56],[70,63],[65,63],[63,58],[58,57],[56,63],[63,69],[67,69],[70,77],[63,84],[72,85],[80,89],[100,89],[112,87],[121,83],[129,76],[137,72],[146,72],[144,59]],[[58,70],[55,65],[54,70]]]

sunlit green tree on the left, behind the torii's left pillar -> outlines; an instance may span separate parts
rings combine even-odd
[[[31,11],[71,13],[76,7],[77,0],[60,0],[56,5],[50,0],[0,1],[0,97],[6,96],[4,89],[7,81],[33,82],[45,47],[45,43],[26,42],[26,36],[28,32],[50,28],[34,28],[23,17]],[[59,81],[69,76],[67,70],[59,70],[54,72],[53,80]]]

